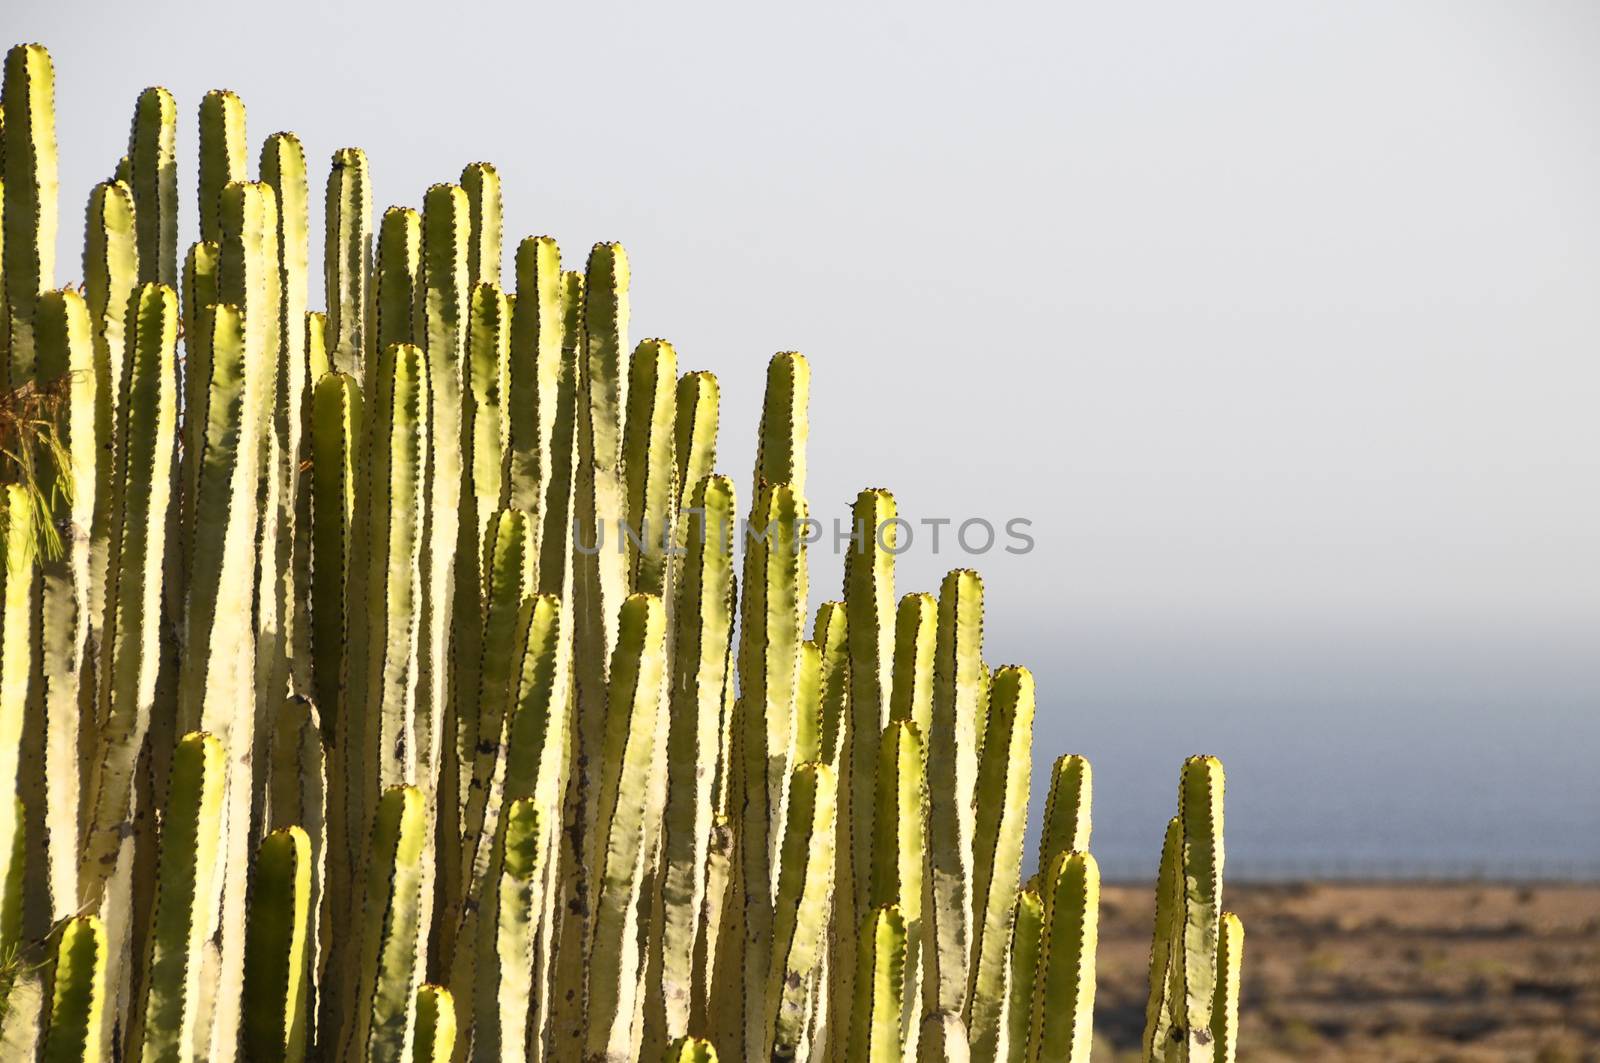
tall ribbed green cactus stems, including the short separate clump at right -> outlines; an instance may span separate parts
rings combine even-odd
[[[374,232],[355,149],[310,311],[301,144],[251,174],[226,91],[200,240],[152,88],[56,288],[53,77],[0,101],[0,371],[61,397],[0,495],[0,1057],[1088,1060],[1088,764],[1022,882],[1034,679],[976,573],[896,602],[888,491],[806,631],[802,355],[741,507],[621,247],[502,287],[491,165]],[[1221,800],[1190,760],[1150,1060],[1232,1060]]]

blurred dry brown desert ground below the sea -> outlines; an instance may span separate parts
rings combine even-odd
[[[1234,885],[1242,1063],[1600,1063],[1600,885]],[[1096,1063],[1139,1058],[1152,897],[1107,885]]]

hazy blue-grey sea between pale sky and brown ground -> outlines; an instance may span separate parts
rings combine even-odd
[[[1032,828],[1051,759],[1086,754],[1109,879],[1154,880],[1190,752],[1227,768],[1235,880],[1600,879],[1600,656],[1582,647],[1085,639],[1026,656]]]

